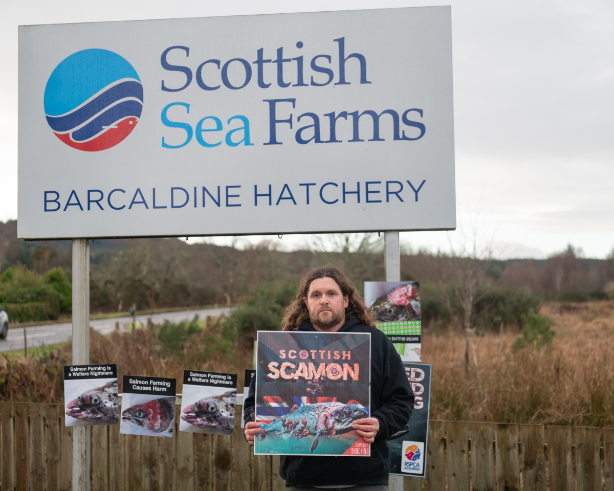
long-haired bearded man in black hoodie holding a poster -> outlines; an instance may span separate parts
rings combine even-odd
[[[352,425],[371,444],[370,457],[332,458],[284,455],[279,475],[290,490],[384,491],[390,458],[387,439],[402,430],[411,416],[414,395],[392,342],[375,328],[375,317],[348,276],[335,266],[313,269],[298,287],[282,319],[284,331],[371,333],[371,415]],[[245,404],[245,438],[254,444],[261,433],[254,422],[255,377]]]

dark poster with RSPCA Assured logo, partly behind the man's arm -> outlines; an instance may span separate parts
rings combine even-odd
[[[397,438],[388,441],[390,473],[424,477],[429,432],[431,366],[425,363],[403,363],[403,366],[416,400],[405,430],[400,431]]]

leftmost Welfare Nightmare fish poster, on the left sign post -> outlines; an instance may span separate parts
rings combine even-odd
[[[64,365],[66,426],[119,424],[117,365]]]

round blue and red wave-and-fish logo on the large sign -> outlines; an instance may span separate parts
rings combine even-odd
[[[88,49],[65,58],[47,80],[45,117],[66,145],[85,152],[114,147],[141,117],[143,87],[128,61]]]

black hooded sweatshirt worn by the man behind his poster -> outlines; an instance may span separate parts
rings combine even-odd
[[[303,322],[298,331],[315,331]],[[325,457],[321,455],[282,455],[279,475],[286,486],[388,484],[390,452],[387,439],[402,430],[410,420],[414,394],[403,362],[392,342],[380,330],[348,319],[341,333],[371,333],[371,417],[379,420],[370,457]],[[254,420],[255,377],[244,401],[245,421]]]

